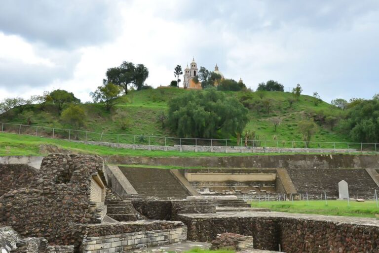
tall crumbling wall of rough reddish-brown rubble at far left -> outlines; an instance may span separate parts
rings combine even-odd
[[[102,169],[103,159],[98,156],[44,158],[39,174],[33,172],[24,180],[30,181],[27,188],[11,189],[0,196],[0,222],[24,237],[45,237],[50,243],[72,245],[75,224],[101,222],[102,210],[89,196],[92,175]],[[9,174],[1,174],[1,179]]]

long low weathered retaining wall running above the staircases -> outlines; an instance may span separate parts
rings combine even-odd
[[[138,164],[153,166],[209,167],[209,168],[379,168],[379,155],[275,155],[231,157],[127,157],[107,156],[110,164]]]

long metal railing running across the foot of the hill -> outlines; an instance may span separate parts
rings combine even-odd
[[[98,133],[86,130],[57,127],[29,126],[13,123],[0,123],[1,132],[34,135],[37,137],[58,138],[75,141],[109,142],[118,144],[152,145],[152,146],[221,146],[221,147],[255,147],[255,148],[302,148],[302,149],[344,149],[351,151],[379,152],[379,143],[364,142],[320,142],[287,140],[245,140],[240,139],[203,139],[180,138],[154,135]]]

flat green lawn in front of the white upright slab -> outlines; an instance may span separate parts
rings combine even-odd
[[[348,206],[349,205],[349,206]],[[268,208],[271,211],[282,211],[292,213],[312,213],[323,215],[356,216],[379,218],[379,208],[375,201],[355,202],[328,200],[306,201],[254,201],[251,203],[254,208]]]

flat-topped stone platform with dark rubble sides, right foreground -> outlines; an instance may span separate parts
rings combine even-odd
[[[379,220],[300,213],[228,211],[179,214],[188,240],[229,232],[254,237],[254,248],[283,252],[379,252]]]

